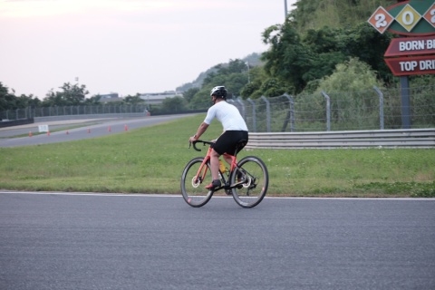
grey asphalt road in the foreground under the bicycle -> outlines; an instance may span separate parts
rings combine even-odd
[[[0,289],[435,289],[435,199],[0,192]]]

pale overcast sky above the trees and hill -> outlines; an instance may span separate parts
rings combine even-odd
[[[173,91],[264,52],[284,19],[283,0],[0,0],[0,82],[40,99],[77,78],[88,97]]]

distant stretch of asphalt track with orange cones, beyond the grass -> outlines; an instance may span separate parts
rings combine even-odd
[[[140,127],[152,126],[186,116],[187,115],[165,115],[132,119],[51,121],[0,128],[0,147],[29,146],[91,139],[109,134],[122,133]],[[50,132],[50,134],[43,133],[37,135],[35,133],[38,132],[39,125],[48,125],[49,130],[52,131],[56,129],[63,130]],[[67,130],[68,127],[72,126],[78,126],[78,128]],[[13,138],[20,135],[24,135],[25,137]],[[31,135],[32,137],[30,137]]]

